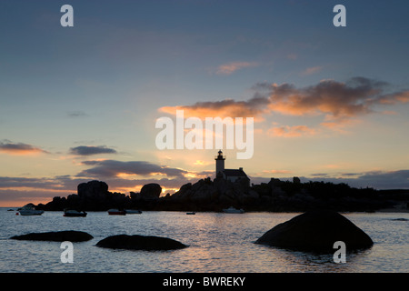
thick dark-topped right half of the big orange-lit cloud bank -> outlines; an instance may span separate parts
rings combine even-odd
[[[325,120],[349,118],[374,112],[375,105],[409,102],[409,91],[385,94],[388,84],[364,77],[346,83],[323,80],[297,89],[294,85],[258,84],[267,89],[270,110],[283,115],[324,115]]]

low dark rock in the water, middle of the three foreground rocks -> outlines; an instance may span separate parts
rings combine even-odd
[[[133,250],[172,250],[185,248],[184,244],[174,239],[160,236],[108,236],[99,241],[96,246]]]

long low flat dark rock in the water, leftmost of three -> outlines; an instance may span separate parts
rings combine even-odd
[[[82,231],[56,231],[48,233],[31,233],[23,236],[13,236],[11,239],[17,240],[39,240],[39,241],[53,241],[53,242],[85,242],[94,237]]]

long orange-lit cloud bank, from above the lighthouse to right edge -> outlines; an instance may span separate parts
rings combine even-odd
[[[199,118],[251,116],[254,121],[263,121],[264,115],[274,113],[321,116],[323,126],[339,129],[341,123],[348,123],[360,115],[374,113],[378,106],[409,103],[409,90],[387,93],[389,86],[386,82],[362,76],[353,77],[346,82],[323,80],[316,85],[302,88],[286,83],[258,83],[253,86],[254,96],[246,101],[224,99],[197,102],[194,105],[165,106],[159,108],[159,111],[175,115],[176,110],[184,110],[185,117]],[[306,131],[307,128],[302,126],[304,125],[284,127],[275,131]]]

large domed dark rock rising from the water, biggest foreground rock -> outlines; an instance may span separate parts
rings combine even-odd
[[[334,242],[343,241],[346,250],[374,245],[371,237],[346,217],[334,211],[308,211],[274,226],[255,244],[303,251],[334,252]]]

